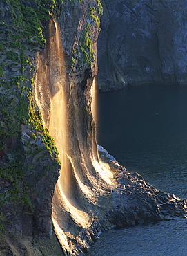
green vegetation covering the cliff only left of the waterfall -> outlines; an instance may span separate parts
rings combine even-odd
[[[8,147],[8,141],[13,138],[21,141],[21,124],[28,125],[32,129],[38,129],[46,149],[53,158],[57,159],[54,140],[42,127],[41,118],[35,112],[34,107],[32,109],[33,119],[30,116],[32,103],[29,102],[28,91],[31,90],[31,87],[30,89],[26,87],[29,81],[24,73],[26,68],[31,73],[35,71],[29,57],[26,56],[26,51],[35,50],[35,48],[46,44],[41,21],[49,18],[57,1],[37,0],[34,6],[32,6],[33,1],[6,0],[6,3],[10,8],[10,17],[6,21],[0,21],[0,33],[4,35],[0,44],[0,181],[8,183],[9,189],[1,193],[0,204],[2,209],[8,203],[12,210],[14,210],[14,206],[22,205],[25,214],[32,214],[33,205],[30,200],[32,188],[25,181],[29,167],[24,163],[23,149],[20,145],[11,149],[10,146]],[[10,69],[14,68],[12,76],[7,77],[8,79],[5,77],[7,66]],[[36,139],[36,136],[33,138],[34,136],[32,135],[33,140]],[[32,149],[30,143],[27,146],[32,155],[43,150],[37,146]],[[4,152],[8,154],[8,162]],[[33,166],[31,168],[35,170]],[[50,169],[53,170],[52,168]],[[46,172],[41,170],[38,174],[33,175],[36,176],[36,180],[39,179],[39,176],[46,175]],[[0,231],[5,231],[5,224],[6,214],[0,212]]]

